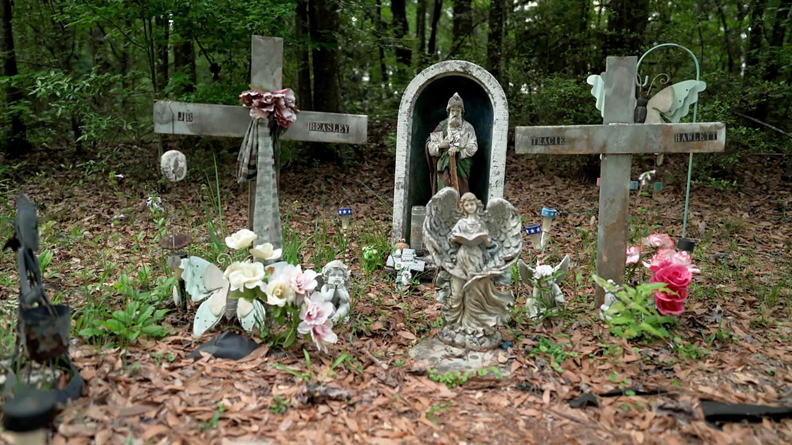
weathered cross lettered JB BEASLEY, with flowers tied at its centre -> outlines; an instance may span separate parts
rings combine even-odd
[[[281,89],[284,40],[253,36],[250,83],[264,89]],[[240,93],[242,93],[240,91]],[[242,105],[154,102],[154,132],[172,135],[207,135],[242,138],[250,124],[249,108]],[[281,140],[318,143],[366,143],[368,116],[301,111]],[[263,135],[262,135],[263,133]],[[250,184],[248,226],[259,235],[257,242],[282,245],[276,164],[272,139],[266,125],[259,126],[257,177]]]

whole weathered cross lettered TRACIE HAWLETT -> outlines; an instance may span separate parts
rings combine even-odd
[[[601,154],[596,273],[624,283],[632,154],[723,151],[722,122],[633,124],[636,57],[608,57],[603,125],[516,127],[518,154]],[[596,306],[604,301],[597,287]]]

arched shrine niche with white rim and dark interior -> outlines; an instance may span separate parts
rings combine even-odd
[[[473,125],[478,150],[470,169],[470,192],[483,203],[503,197],[508,142],[508,103],[497,79],[475,63],[447,60],[421,71],[402,95],[396,130],[394,180],[394,242],[410,242],[410,212],[432,198],[425,143],[441,120],[446,105],[459,93],[464,119]]]

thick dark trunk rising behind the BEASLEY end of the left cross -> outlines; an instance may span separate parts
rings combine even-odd
[[[314,108],[316,111],[341,111],[341,82],[338,79],[338,40],[341,25],[337,0],[310,0],[308,4],[310,39],[320,44],[314,55]]]

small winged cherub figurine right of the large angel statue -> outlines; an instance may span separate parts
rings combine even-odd
[[[519,267],[520,280],[534,287],[533,296],[528,297],[525,302],[529,318],[537,318],[540,314],[546,314],[566,304],[558,282],[563,280],[566,272],[569,271],[569,255],[566,255],[555,267],[542,264],[530,268],[522,260]]]

